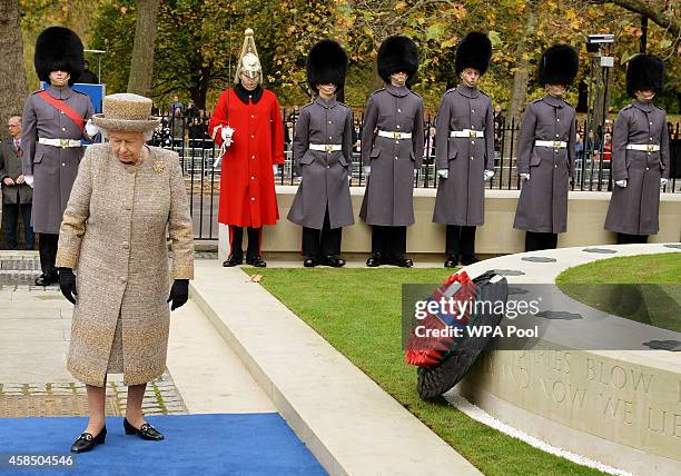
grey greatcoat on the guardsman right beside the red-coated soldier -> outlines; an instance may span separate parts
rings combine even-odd
[[[342,150],[310,150],[309,145],[339,145]],[[353,115],[336,101],[319,97],[300,109],[294,136],[294,157],[303,176],[288,212],[294,224],[320,230],[328,207],[330,228],[353,225],[348,173],[353,163]]]

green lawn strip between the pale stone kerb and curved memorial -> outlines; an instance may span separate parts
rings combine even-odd
[[[401,347],[402,284],[441,284],[447,269],[247,268],[336,349],[487,475],[592,475],[416,393],[415,367]],[[443,474],[447,469],[443,468]]]

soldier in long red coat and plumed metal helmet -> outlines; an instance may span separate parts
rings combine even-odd
[[[220,96],[208,126],[221,147],[218,221],[229,227],[229,258],[223,266],[244,262],[241,242],[247,227],[246,264],[265,267],[260,258],[263,225],[279,218],[274,176],[284,163],[284,126],[279,102],[260,86],[263,71],[253,39],[246,39],[235,86]]]

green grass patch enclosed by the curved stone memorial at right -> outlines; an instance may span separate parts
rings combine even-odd
[[[681,333],[681,252],[602,259],[563,271],[556,282],[591,307]]]

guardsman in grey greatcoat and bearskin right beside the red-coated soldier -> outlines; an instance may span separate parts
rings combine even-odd
[[[307,56],[307,82],[316,99],[300,109],[294,157],[302,175],[288,219],[303,226],[304,266],[345,265],[339,258],[343,227],[353,225],[349,181],[353,112],[336,100],[345,85],[347,54],[333,40],[316,43]]]

